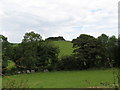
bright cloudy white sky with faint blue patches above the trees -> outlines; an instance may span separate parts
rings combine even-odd
[[[0,34],[19,43],[26,32],[43,39],[80,34],[118,36],[119,0],[0,0]]]

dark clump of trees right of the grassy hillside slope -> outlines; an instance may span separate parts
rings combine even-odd
[[[76,58],[83,63],[82,67],[116,67],[117,63],[117,38],[102,34],[98,38],[81,34],[73,39]]]

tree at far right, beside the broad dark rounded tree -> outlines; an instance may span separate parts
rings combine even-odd
[[[115,66],[117,59],[117,38],[115,36],[108,37],[105,34],[102,34],[98,37],[98,40],[101,42],[101,55],[102,62],[106,67]]]

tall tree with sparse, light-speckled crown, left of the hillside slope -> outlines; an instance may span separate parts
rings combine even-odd
[[[40,41],[42,41],[40,34],[34,32],[25,33],[24,39],[19,47],[21,48],[19,51],[22,56],[16,61],[19,64],[18,66],[30,70],[36,67],[37,44]]]

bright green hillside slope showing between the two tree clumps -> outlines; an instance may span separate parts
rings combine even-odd
[[[70,41],[52,41],[56,46],[59,47],[60,53],[59,58],[65,55],[70,55],[73,52],[73,44]]]

